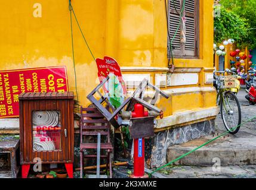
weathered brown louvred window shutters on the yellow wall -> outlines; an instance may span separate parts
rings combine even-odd
[[[169,33],[171,37],[174,36],[175,30],[180,21],[180,11],[183,5],[183,0],[174,0],[176,10],[174,8],[173,0],[169,0]],[[181,43],[181,31],[183,27],[180,26],[177,36],[172,42],[172,54],[176,58],[196,58],[198,56],[198,0],[186,0],[183,14],[186,16],[186,23],[184,31],[186,31],[186,43]],[[168,39],[169,50],[169,39]],[[169,51],[168,51],[168,57]]]

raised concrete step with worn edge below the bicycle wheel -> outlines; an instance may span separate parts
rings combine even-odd
[[[217,137],[217,135],[214,137]],[[169,147],[166,156],[167,162],[193,150],[214,137],[211,135]],[[199,148],[174,164],[187,166],[212,166],[217,162],[220,163],[221,166],[256,164],[255,135],[226,135],[226,137],[218,138],[205,147]]]

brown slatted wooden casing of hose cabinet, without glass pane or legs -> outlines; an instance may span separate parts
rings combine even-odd
[[[38,157],[44,163],[73,163],[74,117],[73,92],[21,93],[20,101],[20,162],[35,164]],[[32,112],[59,110],[61,114],[61,150],[34,151],[32,136]],[[66,137],[65,137],[65,132]]]

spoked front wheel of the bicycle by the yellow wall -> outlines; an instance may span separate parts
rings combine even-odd
[[[220,110],[224,126],[228,131],[241,124],[240,104],[236,95],[231,91],[226,91],[223,96],[221,96]],[[229,133],[236,134],[239,128],[240,126]]]

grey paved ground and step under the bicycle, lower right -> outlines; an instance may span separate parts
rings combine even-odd
[[[246,92],[241,89],[238,99],[242,110],[242,122],[256,115],[256,105],[249,105],[245,99]],[[215,121],[216,132],[214,137],[226,132],[221,116]],[[212,136],[169,147],[169,161],[198,147]],[[183,166],[167,166],[161,170],[166,178],[256,178],[256,120],[240,127],[236,135],[226,135],[200,148],[195,154],[189,154],[179,163]],[[212,162],[212,158],[220,157],[221,164]],[[221,163],[221,162],[220,162]],[[230,165],[232,164],[232,165]],[[246,165],[247,164],[247,165]],[[252,165],[255,164],[255,165]],[[184,166],[187,165],[187,166]]]

